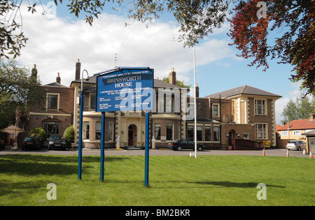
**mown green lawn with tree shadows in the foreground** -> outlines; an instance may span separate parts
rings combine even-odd
[[[0,205],[315,205],[314,168],[297,157],[151,156],[146,188],[144,156],[105,156],[100,182],[99,156],[83,156],[78,180],[77,156],[10,154],[0,156]]]

